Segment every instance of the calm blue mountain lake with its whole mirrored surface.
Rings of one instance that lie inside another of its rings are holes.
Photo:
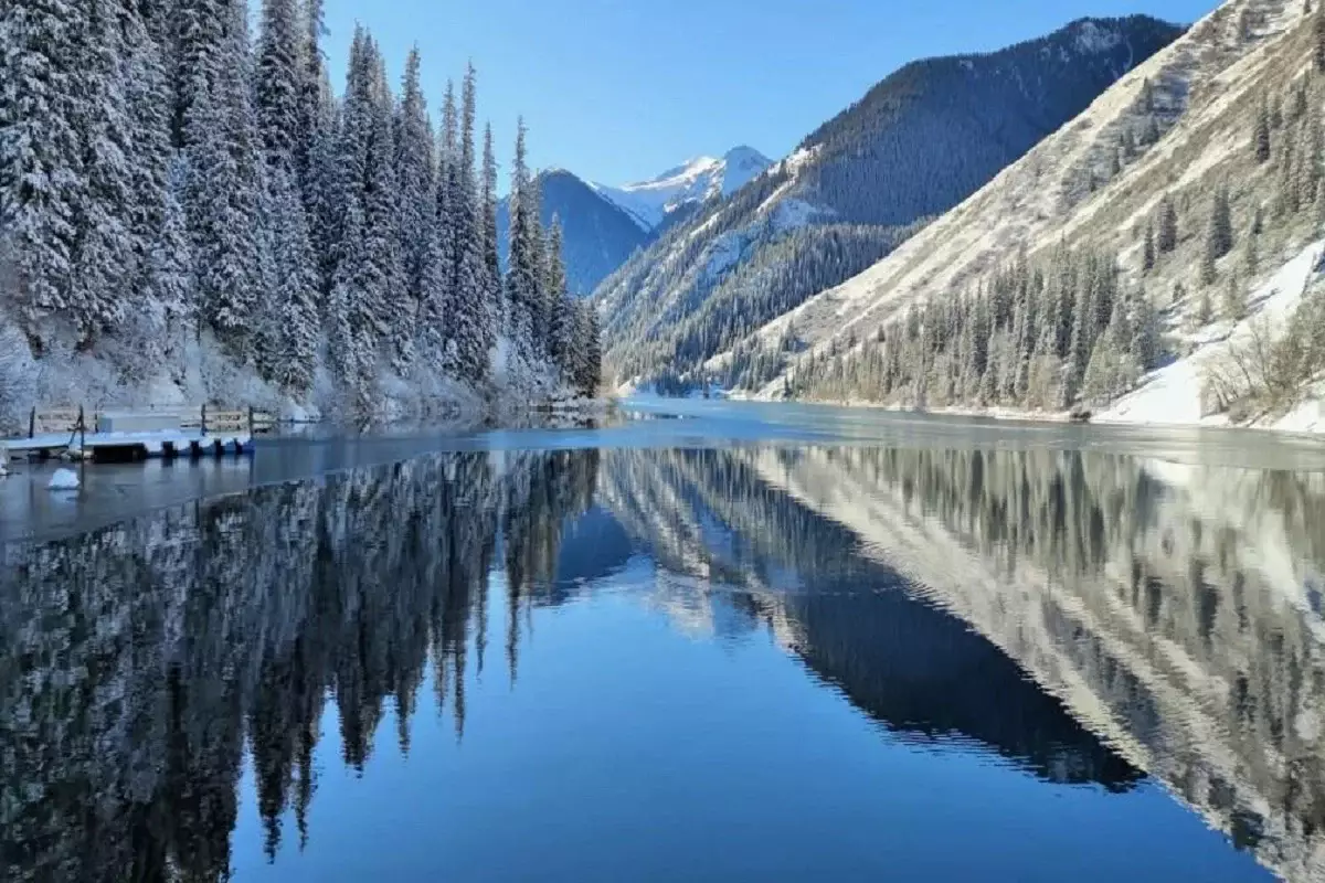
[[[3,879],[1325,879],[1314,441],[641,402],[99,469],[0,485]]]

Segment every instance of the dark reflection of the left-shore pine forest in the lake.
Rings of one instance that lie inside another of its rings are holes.
[[[591,457],[523,466],[566,487]],[[521,503],[511,536],[590,496]],[[33,879],[223,879],[245,747],[268,854],[288,812],[302,847],[327,696],[356,769],[388,706],[408,749],[429,658],[462,731],[505,500],[486,454],[440,454],[8,547],[0,702],[23,714],[0,723],[5,860]],[[17,676],[19,659],[50,676]]]

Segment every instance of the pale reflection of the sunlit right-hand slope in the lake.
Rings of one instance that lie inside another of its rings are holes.
[[[1325,874],[1325,496],[1049,451],[751,454],[1289,879]]]

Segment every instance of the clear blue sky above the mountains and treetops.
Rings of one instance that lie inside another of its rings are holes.
[[[1080,16],[1194,21],[1215,0],[327,0],[337,89],[354,23],[394,77],[413,42],[429,106],[473,58],[478,115],[506,158],[607,184],[750,144],[776,159],[889,71],[980,52]]]

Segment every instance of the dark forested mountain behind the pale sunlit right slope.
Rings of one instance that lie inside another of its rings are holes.
[[[619,379],[693,381],[696,365],[885,256],[1179,33],[1141,16],[1083,20],[902,68],[603,283],[610,364]]]

